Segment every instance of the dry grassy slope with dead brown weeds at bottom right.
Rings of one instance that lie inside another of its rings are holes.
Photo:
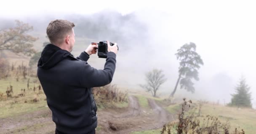
[[[201,101],[191,103],[182,103],[178,120],[165,124],[161,134],[255,134],[256,111],[253,109],[237,109]],[[171,132],[173,128],[175,132]]]

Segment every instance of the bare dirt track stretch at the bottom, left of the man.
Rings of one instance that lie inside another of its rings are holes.
[[[49,109],[0,119],[1,134],[53,134],[54,130]]]

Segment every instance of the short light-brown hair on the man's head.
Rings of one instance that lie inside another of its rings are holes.
[[[63,39],[68,33],[72,32],[75,24],[66,20],[51,21],[46,29],[47,36],[52,44],[62,43]]]

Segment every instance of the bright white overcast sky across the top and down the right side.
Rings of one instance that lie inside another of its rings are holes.
[[[175,51],[184,43],[195,42],[205,62],[200,77],[211,79],[224,73],[237,82],[244,75],[256,104],[256,4],[253,0],[4,0],[1,5],[0,16],[5,18],[91,14],[104,9],[123,15],[144,10],[167,13],[170,17],[166,20],[150,18],[150,13],[144,13],[141,18],[166,21],[162,34],[169,34],[171,43],[177,44]]]

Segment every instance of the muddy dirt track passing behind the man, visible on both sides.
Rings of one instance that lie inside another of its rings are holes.
[[[141,108],[135,96],[129,96],[128,108],[98,111],[97,134],[131,134],[133,131],[159,129],[173,120],[170,113],[148,99],[149,108]],[[1,134],[55,134],[51,111],[47,109],[0,119]]]

